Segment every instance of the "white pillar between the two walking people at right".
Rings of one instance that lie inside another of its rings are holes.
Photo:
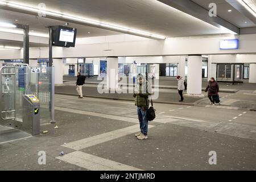
[[[188,56],[188,87],[187,93],[189,96],[204,96],[202,95],[202,56]]]

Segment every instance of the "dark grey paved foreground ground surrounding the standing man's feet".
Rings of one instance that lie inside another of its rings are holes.
[[[114,162],[155,171],[256,170],[255,111],[155,104],[148,139],[138,140],[134,102],[56,94],[55,106],[56,124],[41,129],[48,133],[0,145],[0,170],[104,170],[118,168]],[[65,146],[72,142],[81,149]],[[39,151],[46,151],[46,165],[38,164]],[[56,158],[61,151],[65,155]],[[210,151],[217,154],[216,165],[208,163]],[[72,156],[76,152],[93,158]]]

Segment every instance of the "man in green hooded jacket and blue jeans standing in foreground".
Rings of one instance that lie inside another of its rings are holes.
[[[137,76],[137,84],[135,85],[135,91],[133,97],[135,98],[135,106],[137,106],[137,113],[139,118],[139,127],[141,131],[135,134],[140,140],[147,139],[148,120],[147,109],[149,106],[148,96],[151,93],[151,85],[145,80],[143,75]]]

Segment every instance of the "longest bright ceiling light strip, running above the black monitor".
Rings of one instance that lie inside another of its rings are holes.
[[[92,24],[94,26],[96,25],[96,26],[100,26],[100,27],[111,28],[111,29],[117,30],[117,31],[124,31],[124,32],[128,32],[128,33],[130,32],[130,33],[136,34],[136,35],[148,36],[148,37],[151,37],[151,38],[163,39],[163,40],[166,39],[165,36],[161,36],[161,35],[155,35],[155,34],[150,34],[148,32],[142,32],[142,31],[133,30],[133,29],[129,29],[129,28],[114,26],[114,25],[111,25],[111,24],[96,22],[96,21],[93,21],[93,20],[88,20],[88,19],[77,17],[77,16],[73,16],[73,15],[64,15],[64,14],[60,14],[60,13],[53,13],[52,11],[40,10],[36,7],[24,6],[24,5],[20,5],[20,4],[13,3],[13,2],[6,2],[6,1],[0,0],[0,5],[14,7],[14,8],[17,8],[17,9],[32,11],[32,12],[36,12],[36,13],[42,13],[42,14],[46,14],[46,15],[57,16],[57,17],[66,18],[66,19],[70,19],[70,20],[76,20],[78,22],[88,23],[88,24]]]

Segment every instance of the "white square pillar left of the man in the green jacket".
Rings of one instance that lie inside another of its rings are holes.
[[[118,88],[118,57],[107,58],[106,86],[111,93]]]

